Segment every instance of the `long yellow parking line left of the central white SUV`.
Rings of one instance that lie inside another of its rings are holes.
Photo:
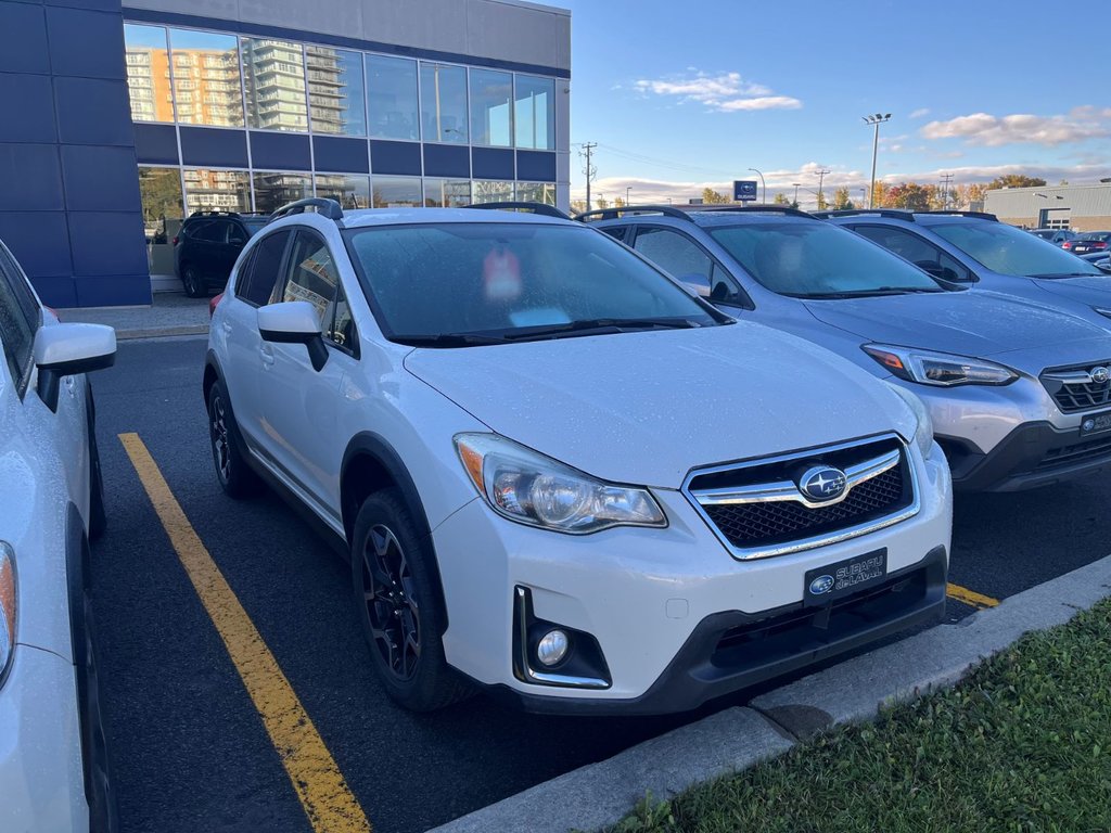
[[[369,833],[370,822],[359,801],[348,787],[254,623],[186,518],[154,459],[139,434],[119,436],[170,536],[170,543],[262,717],[313,831]]]

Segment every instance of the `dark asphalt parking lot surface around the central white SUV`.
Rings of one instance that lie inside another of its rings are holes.
[[[93,379],[109,510],[93,546],[94,604],[124,831],[312,826],[282,766],[288,750],[268,734],[121,434],[149,451],[377,831],[427,830],[697,716],[540,717],[484,697],[432,715],[392,705],[347,565],[276,495],[240,503],[220,491],[200,393],[204,347],[126,342],[117,367]],[[1092,479],[959,499],[948,616],[1107,555],[1105,495]]]

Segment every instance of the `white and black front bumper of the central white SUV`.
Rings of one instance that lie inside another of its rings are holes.
[[[937,446],[915,468],[921,508],[913,518],[754,561],[734,559],[679,492],[654,491],[667,529],[585,536],[514,524],[477,499],[433,532],[448,662],[532,711],[662,713],[934,619],[944,604],[951,485]],[[822,628],[828,609],[817,618],[803,610],[807,571],[879,548],[888,551],[889,592],[848,596]],[[607,685],[538,684],[514,673],[519,589],[538,619],[597,641]]]

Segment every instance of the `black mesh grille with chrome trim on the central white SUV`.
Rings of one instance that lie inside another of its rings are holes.
[[[845,473],[845,491],[814,501],[800,473],[821,464]],[[889,435],[770,460],[697,471],[684,486],[702,516],[740,559],[781,555],[890,525],[918,512],[909,452]]]

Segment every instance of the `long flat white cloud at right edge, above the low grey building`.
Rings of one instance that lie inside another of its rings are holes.
[[[1004,144],[1053,147],[1111,136],[1111,111],[1097,112],[1085,106],[1068,116],[992,116],[971,113],[949,121],[931,121],[922,127],[927,139],[963,139],[969,144],[998,148]]]

